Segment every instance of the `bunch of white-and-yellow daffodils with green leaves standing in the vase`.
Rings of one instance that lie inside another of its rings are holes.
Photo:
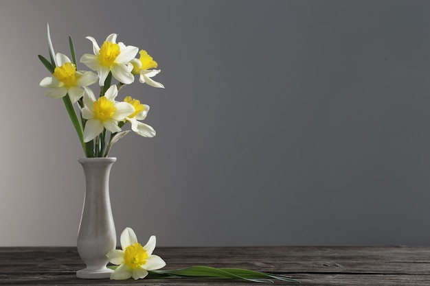
[[[73,40],[69,36],[71,60],[63,53],[55,53],[47,27],[50,61],[39,55],[52,76],[44,78],[40,86],[47,88],[46,95],[63,98],[69,117],[78,133],[85,156],[106,157],[113,143],[130,130],[122,131],[126,123],[140,136],[153,137],[155,130],[142,122],[148,115],[149,106],[130,96],[122,102],[116,100],[120,89],[131,84],[135,76],[139,82],[156,88],[164,88],[152,77],[160,70],[157,62],[145,50],[117,43],[117,34],[110,34],[100,47],[95,38],[87,39],[93,44],[93,54],[86,53],[80,62],[95,71],[78,71]],[[139,52],[139,58],[135,58]],[[116,83],[113,82],[116,80]],[[98,83],[100,94],[96,97],[89,88]],[[75,109],[75,106],[77,107]],[[78,110],[80,118],[78,118]]]

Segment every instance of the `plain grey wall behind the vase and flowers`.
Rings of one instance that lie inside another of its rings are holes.
[[[76,245],[82,150],[38,87],[47,22],[56,51],[115,32],[159,62],[166,89],[120,93],[157,136],[111,153],[118,234],[430,245],[429,1],[3,0],[1,246]]]

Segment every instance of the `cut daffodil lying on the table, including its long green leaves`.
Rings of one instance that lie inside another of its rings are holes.
[[[115,266],[111,279],[123,280],[128,278],[228,278],[242,279],[252,282],[272,283],[273,279],[284,282],[299,283],[287,276],[256,272],[238,268],[214,268],[208,266],[193,266],[177,270],[159,270],[166,265],[161,257],[152,254],[155,250],[156,239],[151,236],[145,246],[137,241],[135,232],[126,228],[121,234],[121,250],[111,250],[106,256]]]

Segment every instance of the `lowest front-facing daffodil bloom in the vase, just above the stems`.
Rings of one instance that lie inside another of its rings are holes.
[[[84,142],[91,141],[103,131],[120,132],[118,121],[124,121],[126,117],[135,112],[135,108],[127,102],[115,102],[118,95],[117,86],[108,88],[104,96],[95,99],[93,91],[84,88],[84,108],[82,117],[87,119],[84,128]]]

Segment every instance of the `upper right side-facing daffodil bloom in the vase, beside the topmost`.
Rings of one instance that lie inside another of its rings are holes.
[[[133,75],[139,75],[139,82],[142,82],[142,84],[146,83],[153,87],[164,88],[163,84],[151,79],[161,71],[160,69],[155,69],[158,67],[157,62],[143,49],[139,51],[139,55],[139,59],[134,58],[131,60],[131,64],[133,64]]]

